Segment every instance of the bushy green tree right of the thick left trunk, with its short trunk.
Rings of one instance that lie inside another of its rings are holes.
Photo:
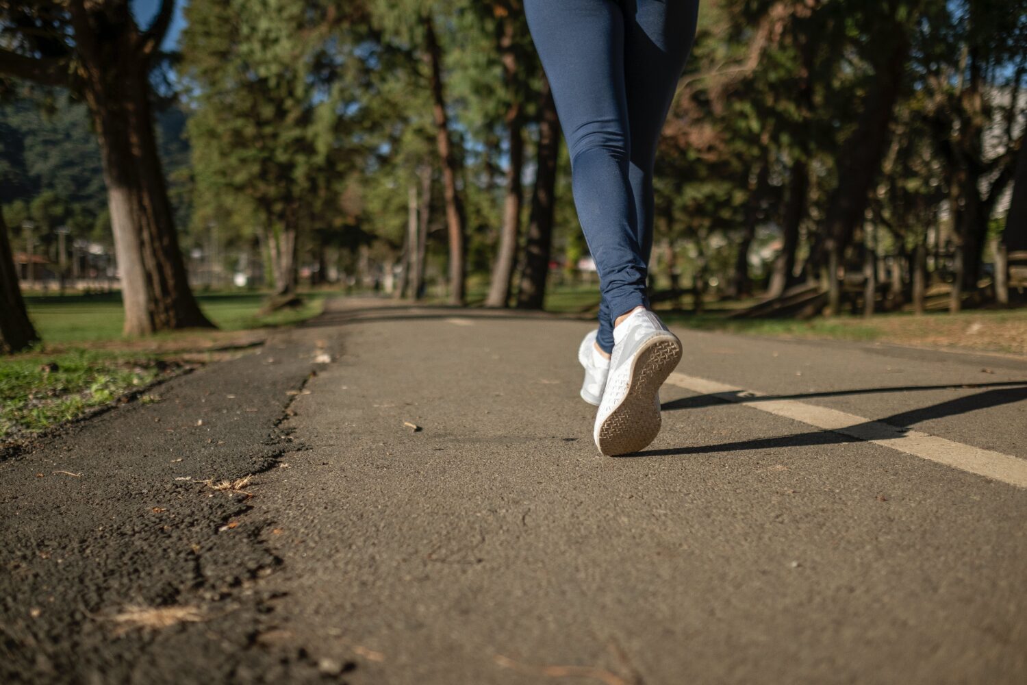
[[[362,102],[350,86],[363,70],[358,41],[340,35],[351,17],[320,0],[192,3],[187,16],[196,219],[256,224],[274,303],[289,301],[300,242],[324,241],[346,214],[346,132],[357,118],[346,112]]]

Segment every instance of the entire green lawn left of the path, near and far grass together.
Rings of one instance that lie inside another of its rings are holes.
[[[259,342],[255,329],[291,326],[320,313],[326,293],[304,295],[297,309],[261,314],[264,296],[197,296],[219,331],[149,338],[121,335],[117,294],[26,298],[43,344],[0,359],[0,447],[145,388],[210,358],[211,350]],[[197,353],[197,351],[201,353]],[[143,395],[153,401],[154,395]]]

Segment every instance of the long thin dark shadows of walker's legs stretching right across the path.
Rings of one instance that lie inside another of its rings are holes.
[[[882,388],[864,389],[839,392],[817,392],[806,395],[787,395],[776,397],[746,397],[746,402],[767,401],[767,399],[794,399],[800,397],[824,397],[844,394],[862,394],[872,392],[893,392],[899,390],[931,390],[951,387],[964,387],[960,385],[941,386],[920,386],[909,388]],[[720,445],[700,445],[695,447],[672,448],[667,450],[647,450],[635,454],[623,455],[624,457],[665,457],[684,456],[689,454],[711,454],[720,452],[744,452],[749,450],[775,450],[790,447],[809,447],[823,445],[840,445],[843,443],[853,443],[859,441],[886,441],[902,437],[917,423],[941,419],[949,416],[959,416],[975,412],[981,409],[1000,407],[1015,402],[1027,399],[1027,381],[1010,383],[987,383],[974,387],[990,387],[992,389],[978,392],[964,397],[955,397],[946,402],[938,403],[929,407],[914,409],[907,412],[900,412],[881,419],[869,420],[864,423],[847,426],[846,431],[854,432],[860,437],[835,432],[833,430],[817,429],[808,432],[794,433],[791,435],[777,435],[774,437],[761,437],[757,440],[738,441],[733,443],[722,443]],[[719,395],[700,395],[698,397],[685,397],[684,401],[668,403],[674,405],[674,409],[698,409],[730,403],[725,398],[726,393]],[[712,403],[710,401],[713,401]],[[688,404],[690,401],[692,404]],[[665,405],[664,405],[665,407]]]

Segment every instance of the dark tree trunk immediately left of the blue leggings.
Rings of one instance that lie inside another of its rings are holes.
[[[549,273],[553,248],[553,215],[556,208],[557,160],[560,156],[560,119],[553,101],[549,82],[542,79],[542,111],[538,124],[538,158],[535,189],[531,197],[528,241],[525,245],[524,272],[518,289],[517,306],[541,309],[545,301],[545,281]]]

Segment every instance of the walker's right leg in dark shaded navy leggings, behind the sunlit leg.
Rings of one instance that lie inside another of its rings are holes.
[[[656,146],[695,37],[698,0],[622,0],[624,81],[630,122],[629,179],[645,264],[652,252]]]

